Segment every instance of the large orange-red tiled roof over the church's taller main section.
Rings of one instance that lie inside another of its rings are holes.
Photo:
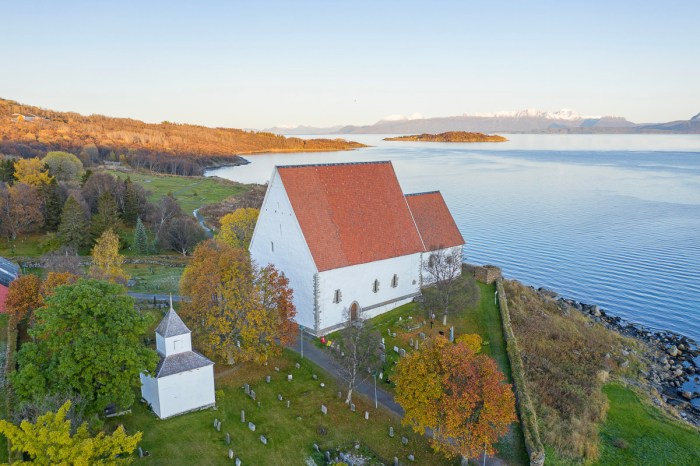
[[[391,162],[277,171],[319,271],[423,251]]]

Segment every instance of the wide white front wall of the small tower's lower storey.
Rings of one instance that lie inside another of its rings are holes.
[[[214,395],[214,366],[201,367],[157,379],[159,405],[153,411],[161,419],[212,406]]]

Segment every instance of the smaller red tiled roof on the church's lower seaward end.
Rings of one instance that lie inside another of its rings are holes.
[[[439,191],[407,194],[406,201],[426,251],[464,244],[464,238]]]

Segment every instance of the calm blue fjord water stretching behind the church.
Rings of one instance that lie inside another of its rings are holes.
[[[391,160],[404,192],[442,192],[468,262],[700,341],[700,135],[507,137],[351,135],[373,147],[248,156],[207,175],[264,183],[274,165]]]

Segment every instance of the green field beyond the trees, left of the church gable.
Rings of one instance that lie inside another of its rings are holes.
[[[191,214],[193,210],[206,204],[221,202],[227,197],[240,194],[250,189],[249,186],[220,178],[203,176],[176,176],[157,173],[122,172],[107,170],[121,179],[127,176],[150,191],[148,199],[158,202],[160,198],[172,193],[182,210]]]

